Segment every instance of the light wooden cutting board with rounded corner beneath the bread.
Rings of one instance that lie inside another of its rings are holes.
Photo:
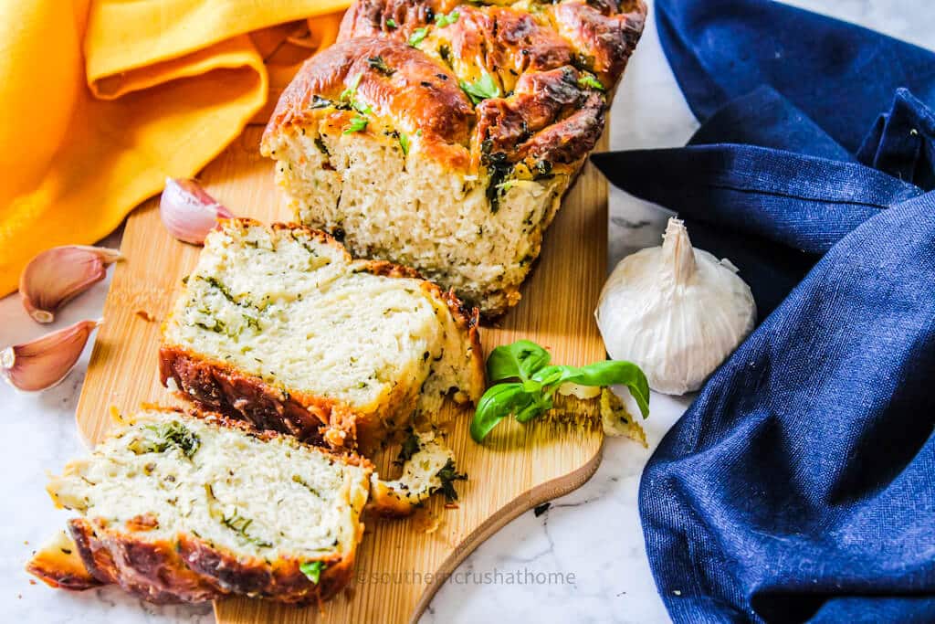
[[[258,152],[260,126],[243,135],[200,175],[209,193],[239,216],[289,221],[273,183],[273,164]],[[606,138],[604,139],[606,141]],[[602,143],[606,146],[606,142]],[[159,384],[156,358],[159,324],[181,278],[194,268],[199,248],[172,239],[153,199],[127,220],[115,269],[78,406],[78,428],[88,443],[108,428],[108,409],[134,410],[141,402],[174,403]],[[549,229],[538,266],[525,283],[523,300],[497,327],[485,327],[485,352],[520,338],[539,342],[553,361],[580,366],[603,359],[593,310],[605,275],[607,183],[588,164]],[[445,582],[446,574],[484,539],[541,502],[581,486],[597,470],[603,434],[597,406],[560,403],[586,424],[564,418],[497,428],[483,445],[468,436],[471,414],[453,405],[449,443],[458,468],[468,473],[457,484],[457,508],[434,500],[403,520],[367,518],[358,551],[356,580],[343,595],[324,604],[296,608],[232,599],[215,604],[219,622],[345,622],[395,624],[415,621]],[[390,449],[388,455],[395,452]],[[378,465],[385,462],[378,460]],[[439,497],[434,497],[439,499]]]

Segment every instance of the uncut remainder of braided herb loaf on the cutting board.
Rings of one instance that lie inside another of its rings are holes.
[[[261,151],[302,223],[504,312],[604,129],[642,0],[357,0]]]

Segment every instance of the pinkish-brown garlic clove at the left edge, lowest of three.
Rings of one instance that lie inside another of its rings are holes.
[[[0,351],[0,375],[24,392],[37,392],[58,384],[68,374],[95,327],[103,321],[80,321],[35,341]]]

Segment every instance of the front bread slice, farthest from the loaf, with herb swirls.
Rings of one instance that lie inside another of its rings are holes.
[[[68,528],[95,582],[151,602],[309,602],[351,578],[371,472],[366,459],[220,414],[151,408],[121,419],[48,489],[79,513]],[[29,570],[58,587],[94,585],[67,564]]]

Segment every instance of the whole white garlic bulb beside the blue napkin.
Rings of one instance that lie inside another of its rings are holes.
[[[753,330],[750,287],[729,260],[692,248],[679,219],[661,247],[628,255],[597,304],[597,326],[612,359],[635,362],[657,392],[698,390]]]

